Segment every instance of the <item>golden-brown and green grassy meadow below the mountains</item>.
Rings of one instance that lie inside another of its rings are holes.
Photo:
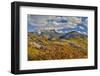
[[[48,38],[47,35],[28,32],[28,60],[87,58],[87,42],[87,37],[78,34],[70,38]]]

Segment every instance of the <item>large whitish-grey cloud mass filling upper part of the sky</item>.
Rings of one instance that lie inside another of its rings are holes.
[[[51,23],[48,20],[53,20]],[[66,23],[59,22],[66,20]],[[79,17],[62,17],[62,16],[42,16],[42,15],[28,15],[28,23],[37,26],[37,30],[51,30],[63,28],[75,28],[77,24],[81,23]]]

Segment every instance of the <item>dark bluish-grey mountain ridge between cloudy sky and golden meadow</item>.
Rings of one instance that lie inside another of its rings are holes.
[[[38,35],[37,32],[33,32],[33,34]],[[46,36],[49,39],[52,38],[59,38],[59,39],[70,39],[70,38],[87,38],[87,35],[85,34],[81,34],[77,31],[71,31],[68,33],[58,33],[55,30],[51,30],[51,31],[42,31],[41,34],[39,34],[41,36]]]

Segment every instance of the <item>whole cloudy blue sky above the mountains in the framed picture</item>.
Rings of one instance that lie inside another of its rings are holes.
[[[28,32],[55,30],[58,33],[77,31],[87,34],[88,17],[28,15]]]

